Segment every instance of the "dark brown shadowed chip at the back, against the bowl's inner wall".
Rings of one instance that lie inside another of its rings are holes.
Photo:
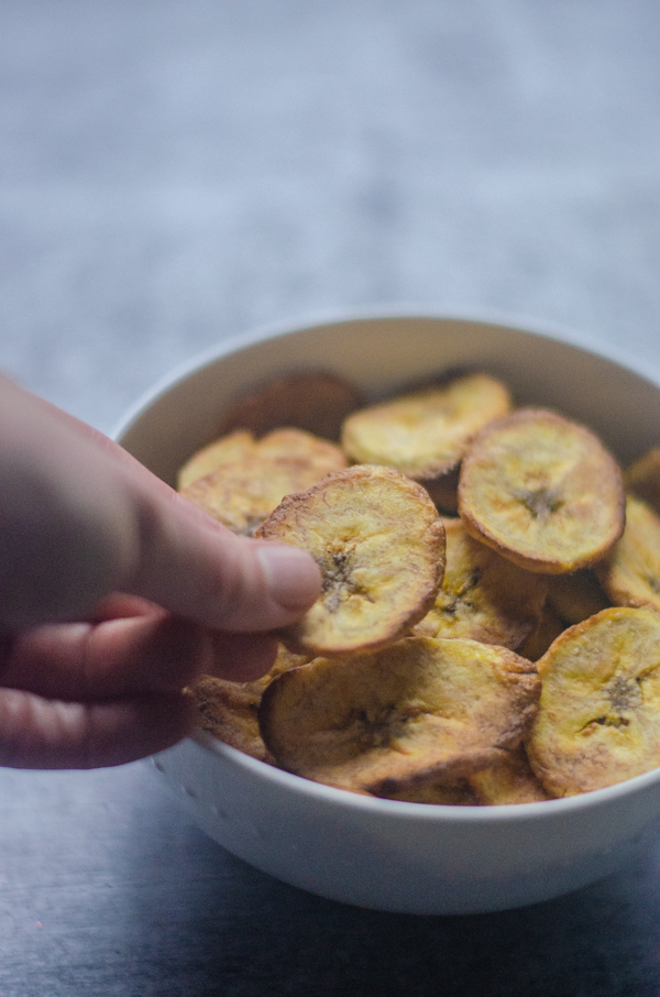
[[[337,374],[322,371],[283,374],[235,402],[224,417],[221,431],[251,429],[262,436],[278,426],[296,426],[337,440],[343,419],[361,401],[355,385]]]

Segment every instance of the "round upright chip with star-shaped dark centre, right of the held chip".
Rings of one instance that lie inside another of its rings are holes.
[[[514,563],[548,574],[586,568],[624,529],[622,474],[583,426],[526,408],[492,423],[463,459],[468,532]]]

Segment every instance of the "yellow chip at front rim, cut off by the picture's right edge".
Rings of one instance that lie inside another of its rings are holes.
[[[660,614],[603,610],[558,637],[538,668],[527,753],[549,792],[601,789],[660,765]]]

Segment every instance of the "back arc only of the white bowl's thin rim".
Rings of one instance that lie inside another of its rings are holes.
[[[386,321],[391,319],[408,319],[425,321],[465,322],[471,325],[494,326],[502,329],[512,329],[539,339],[557,340],[601,357],[625,370],[636,374],[650,384],[660,388],[660,366],[650,361],[620,350],[610,342],[602,342],[595,336],[579,332],[575,329],[556,322],[543,322],[525,314],[499,311],[494,308],[447,308],[415,305],[363,305],[342,309],[330,309],[301,315],[299,318],[283,319],[256,326],[254,329],[221,339],[211,347],[207,347],[176,364],[168,373],[160,377],[147,387],[128,410],[120,417],[110,431],[113,440],[119,440],[133,425],[140,415],[150,407],[161,395],[174,387],[179,381],[195,374],[216,360],[238,353],[241,350],[256,346],[260,342],[278,339],[296,332],[311,331],[315,327],[348,325],[354,321]]]

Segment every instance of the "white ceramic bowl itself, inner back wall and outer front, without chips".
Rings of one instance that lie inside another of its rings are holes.
[[[117,436],[173,483],[227,406],[270,375],[332,370],[377,396],[463,364],[499,375],[519,403],[592,426],[623,463],[660,441],[660,380],[639,364],[565,333],[432,316],[359,317],[224,344],[158,385]],[[150,764],[234,855],[302,889],[381,910],[468,913],[546,900],[617,869],[660,830],[660,770],[570,799],[479,808],[319,786],[207,734]]]

